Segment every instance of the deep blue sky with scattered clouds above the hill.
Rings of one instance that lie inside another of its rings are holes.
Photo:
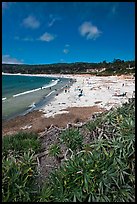
[[[134,2],[2,2],[2,62],[135,58]]]

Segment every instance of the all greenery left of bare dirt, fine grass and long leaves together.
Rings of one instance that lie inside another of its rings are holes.
[[[34,133],[18,133],[2,139],[2,201],[36,200],[37,162],[40,142]]]

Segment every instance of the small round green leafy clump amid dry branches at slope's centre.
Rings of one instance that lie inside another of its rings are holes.
[[[81,149],[83,145],[82,135],[79,133],[79,130],[74,128],[64,131],[60,136],[60,140],[73,151]]]

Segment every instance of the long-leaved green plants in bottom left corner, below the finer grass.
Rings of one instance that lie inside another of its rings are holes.
[[[2,201],[26,202],[34,199],[36,177],[34,152],[2,159]]]

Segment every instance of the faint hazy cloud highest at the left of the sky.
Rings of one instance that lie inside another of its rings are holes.
[[[34,16],[28,16],[22,23],[26,28],[36,29],[40,26],[40,22]]]

